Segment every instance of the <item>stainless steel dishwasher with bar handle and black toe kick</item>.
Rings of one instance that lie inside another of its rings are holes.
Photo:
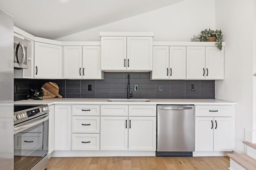
[[[192,156],[194,143],[194,105],[158,105],[156,156]]]

